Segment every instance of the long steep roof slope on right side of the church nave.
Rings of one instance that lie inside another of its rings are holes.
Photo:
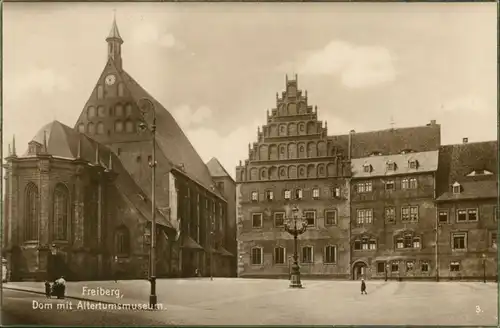
[[[223,198],[221,193],[212,188],[214,182],[210,172],[186,137],[174,117],[146,90],[144,90],[129,74],[122,72],[126,88],[137,102],[141,98],[150,99],[155,106],[156,136],[159,149],[173,165],[182,165],[186,175],[197,181],[204,188]]]

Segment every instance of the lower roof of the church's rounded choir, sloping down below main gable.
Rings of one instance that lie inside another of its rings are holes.
[[[78,157],[78,152],[80,152],[81,160],[88,162],[89,165],[95,165],[96,154],[99,154],[99,164],[108,169],[111,157],[111,171],[117,174],[114,186],[143,218],[151,221],[151,201],[140,198],[141,188],[123,167],[120,159],[108,147],[97,143],[84,134],[78,133],[59,121],[53,121],[45,125],[32,140],[43,144],[44,134],[47,141],[47,153],[51,156],[75,160]],[[97,148],[99,149],[98,152]],[[161,213],[157,214],[157,220],[161,225],[172,227],[168,218],[165,218]]]

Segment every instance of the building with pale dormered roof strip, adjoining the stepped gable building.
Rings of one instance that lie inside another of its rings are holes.
[[[432,276],[440,126],[351,132],[350,140],[354,279]]]

